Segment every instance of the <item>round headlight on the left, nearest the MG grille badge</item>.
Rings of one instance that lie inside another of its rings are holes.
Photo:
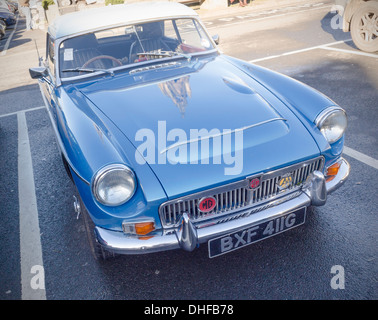
[[[92,182],[92,192],[97,201],[107,206],[119,206],[135,192],[134,173],[121,164],[99,170]]]

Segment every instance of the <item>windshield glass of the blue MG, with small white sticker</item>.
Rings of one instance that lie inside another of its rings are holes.
[[[184,57],[214,49],[195,19],[172,19],[127,25],[63,41],[60,77],[74,77],[145,61]]]

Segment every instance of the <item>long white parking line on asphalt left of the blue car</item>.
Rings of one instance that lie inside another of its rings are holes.
[[[23,300],[45,300],[41,235],[25,112],[17,113],[17,121],[21,298]]]

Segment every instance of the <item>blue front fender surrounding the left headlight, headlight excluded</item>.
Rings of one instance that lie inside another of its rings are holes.
[[[124,219],[153,217],[160,227],[158,206],[166,201],[160,182],[148,166],[138,166],[135,148],[118,128],[74,86],[56,89],[57,107],[52,121],[61,149],[70,165],[80,197],[97,226],[121,231]],[[91,191],[94,174],[106,165],[122,163],[137,177],[137,190],[127,203],[108,207]],[[143,181],[145,182],[143,184]]]

